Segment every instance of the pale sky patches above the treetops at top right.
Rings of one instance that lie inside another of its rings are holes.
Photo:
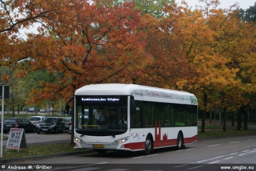
[[[239,3],[241,9],[248,9],[250,6],[254,6],[256,0],[219,0],[221,9],[228,9],[231,5],[236,2]],[[180,6],[181,0],[175,0],[176,3]],[[195,5],[204,6],[204,3],[199,3],[198,0],[185,0],[189,7],[192,6],[192,9],[195,9]]]

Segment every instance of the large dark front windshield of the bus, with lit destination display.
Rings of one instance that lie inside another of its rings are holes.
[[[75,131],[113,136],[127,131],[128,96],[76,96]]]

